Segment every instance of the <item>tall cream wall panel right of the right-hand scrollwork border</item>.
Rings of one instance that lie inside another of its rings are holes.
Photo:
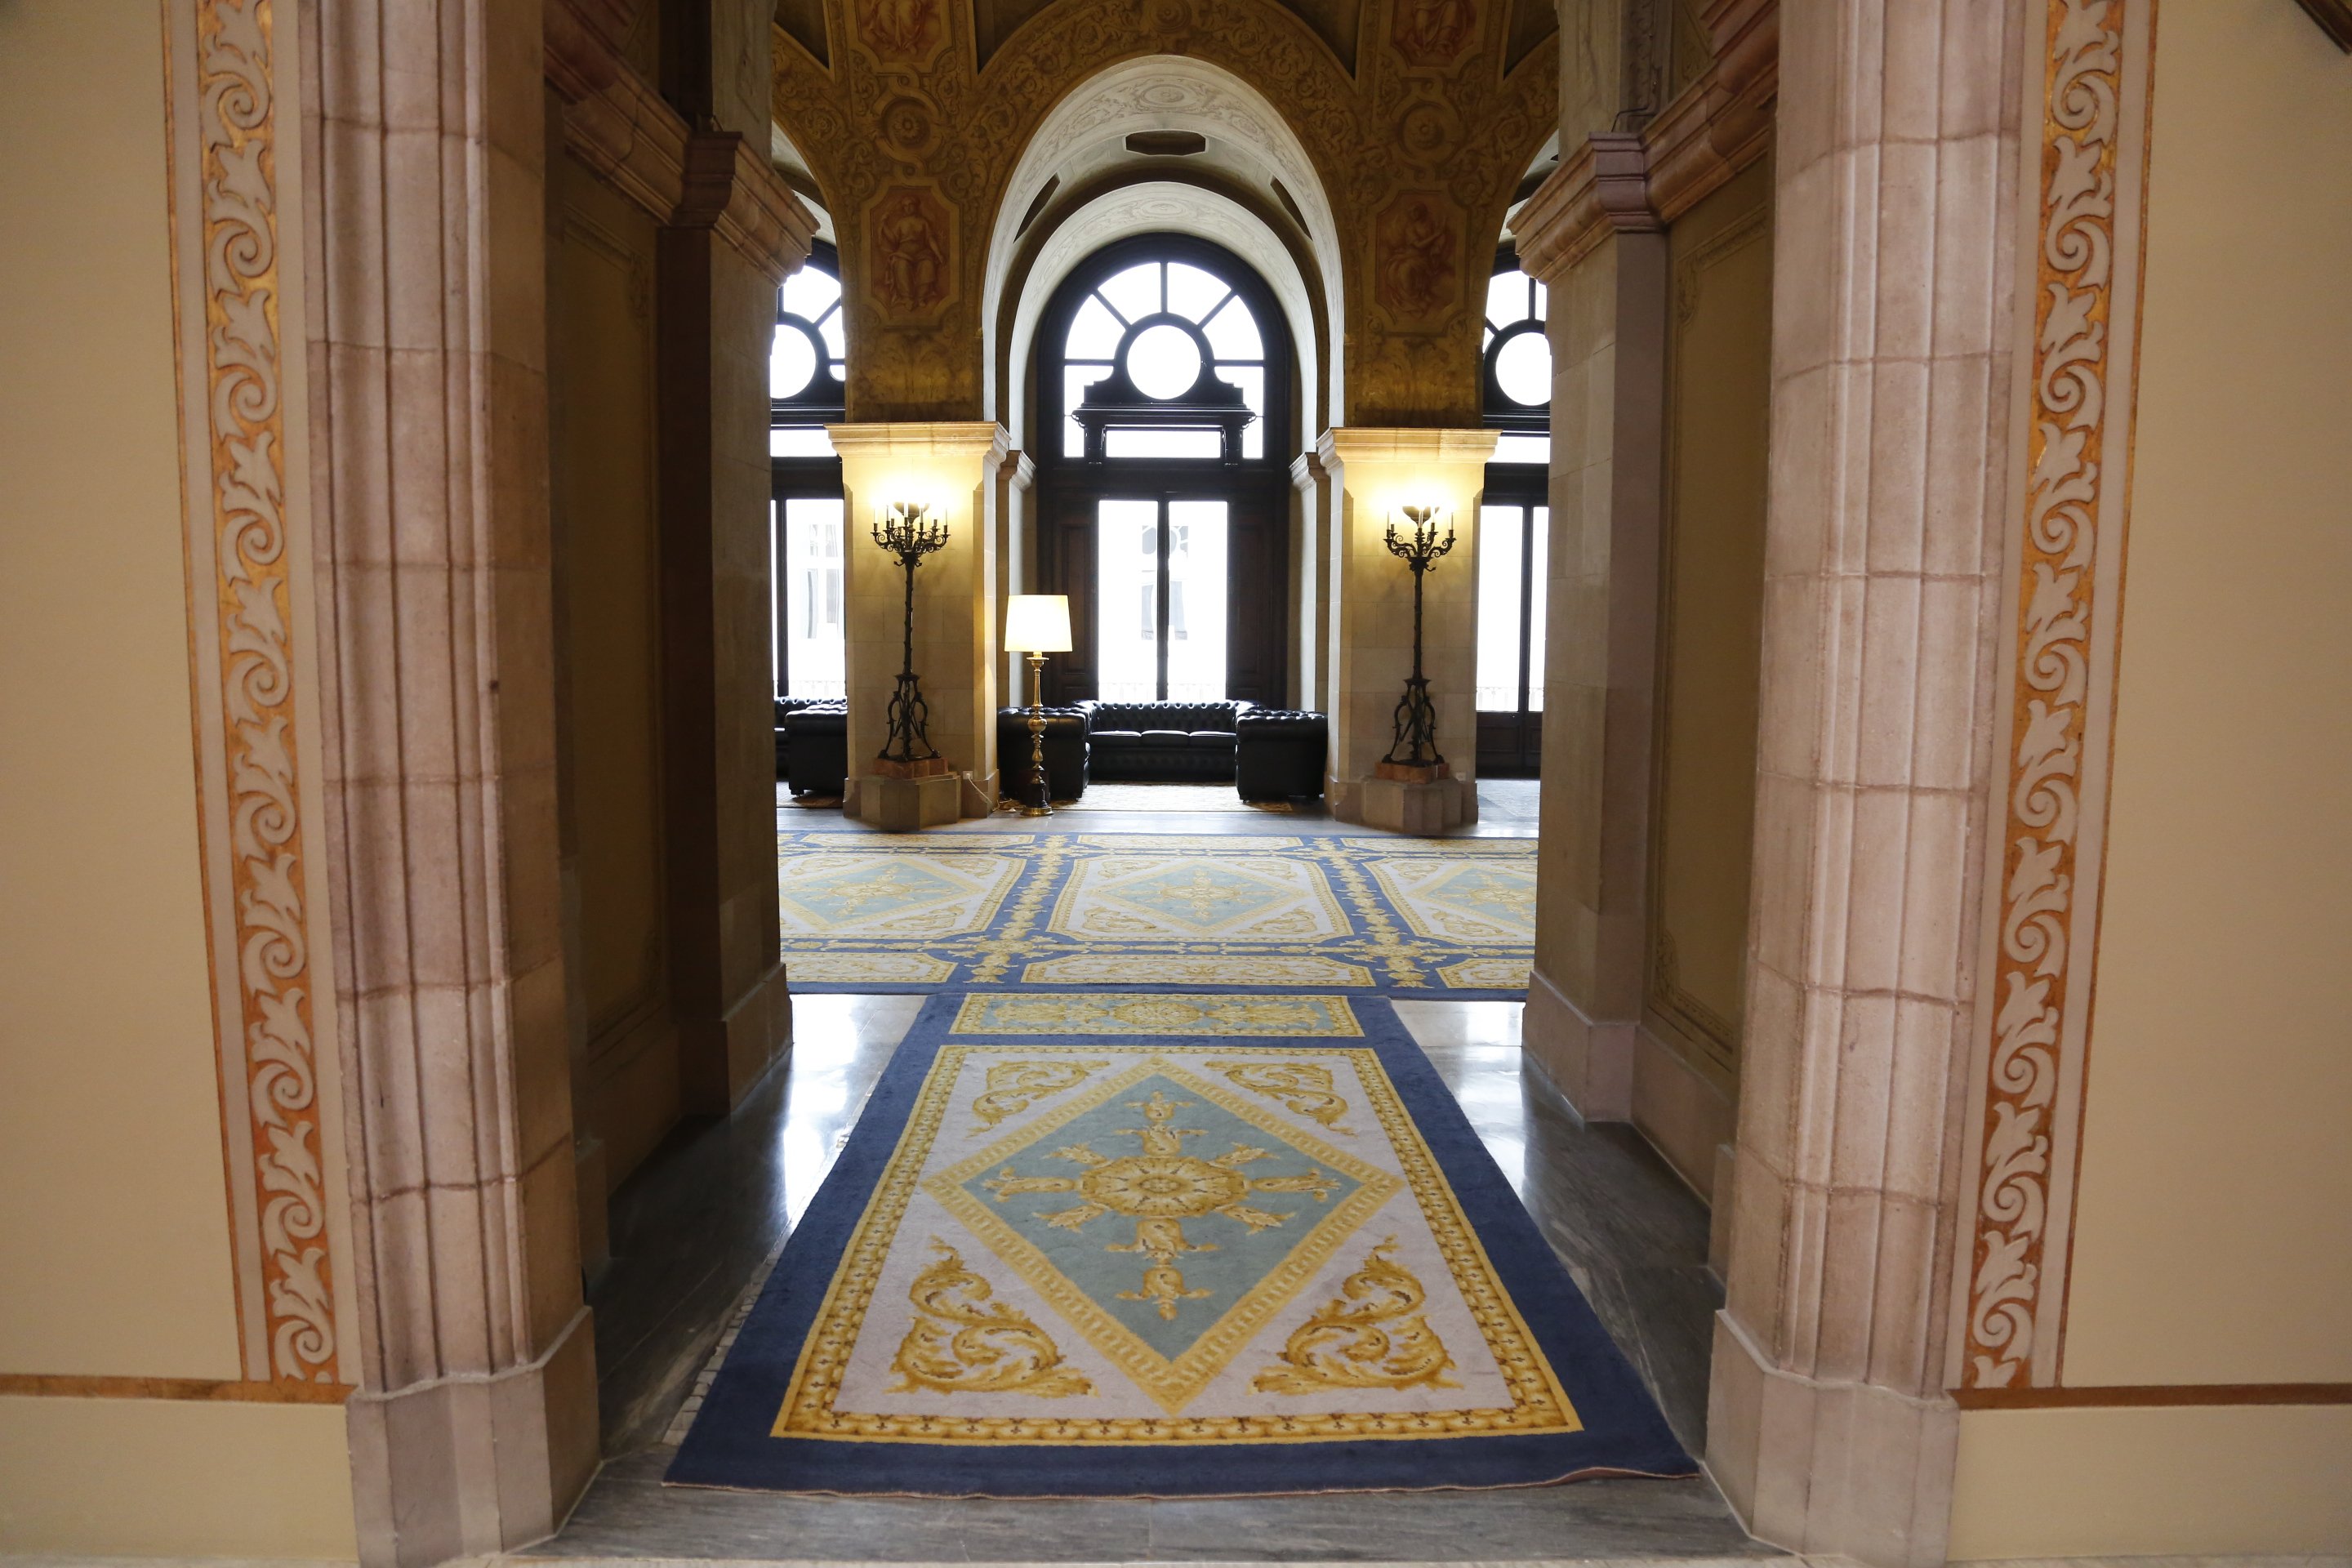
[[[2352,56],[2277,0],[2157,28],[2060,1375],[2352,1382]]]

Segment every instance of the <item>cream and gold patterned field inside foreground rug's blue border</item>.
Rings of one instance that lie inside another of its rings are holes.
[[[946,1046],[774,1425],[1576,1429],[1376,1056],[1249,1041]]]

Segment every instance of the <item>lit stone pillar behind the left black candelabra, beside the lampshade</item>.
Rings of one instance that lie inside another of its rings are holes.
[[[997,423],[833,425],[842,454],[849,621],[849,795],[844,811],[891,830],[988,816],[997,799]],[[950,783],[882,778],[875,759],[898,677],[906,574],[873,541],[889,505],[920,501],[948,543],[915,569],[915,675]]]

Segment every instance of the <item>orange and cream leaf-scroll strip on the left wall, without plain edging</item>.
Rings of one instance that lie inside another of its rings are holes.
[[[261,1309],[270,1375],[332,1382],[334,1288],[294,764],[270,0],[200,0],[195,52],[214,604]]]

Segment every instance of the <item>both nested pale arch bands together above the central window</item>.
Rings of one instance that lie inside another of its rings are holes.
[[[1322,273],[1324,320],[1348,320],[1341,299],[1343,261],[1338,221],[1331,214],[1331,200],[1324,193],[1322,176],[1289,122],[1275,110],[1272,103],[1265,101],[1261,92],[1221,66],[1178,56],[1127,61],[1082,82],[1054,106],[1054,110],[1037,127],[1037,134],[1030,136],[1028,146],[1021,150],[1021,162],[1014,167],[1004,188],[1004,200],[997,205],[997,221],[988,235],[983,322],[988,334],[985,374],[990,383],[985,388],[985,402],[988,411],[1000,418],[1009,400],[1004,397],[1004,388],[995,386],[1000,364],[1007,364],[1007,357],[997,353],[997,331],[1007,324],[1004,289],[1014,273],[1016,252],[1021,249],[1021,223],[1028,216],[1030,205],[1047,188],[1047,181],[1068,169],[1075,158],[1080,158],[1087,148],[1096,148],[1105,141],[1122,141],[1134,132],[1195,132],[1202,136],[1216,136],[1258,176],[1261,183],[1282,181],[1282,188],[1291,193],[1291,200],[1298,205],[1298,214],[1305,219],[1308,249],[1315,256],[1315,268]],[[1296,294],[1298,306],[1305,306],[1308,284],[1279,235],[1275,235],[1263,219],[1247,212],[1230,197],[1221,197],[1192,183],[1152,181],[1148,186],[1150,195],[1143,195],[1143,190],[1145,186],[1129,186],[1103,200],[1089,202],[1084,209],[1063,219],[1061,228],[1054,230],[1054,237],[1040,254],[1037,266],[1030,268],[1030,280],[1021,287],[1023,310],[1030,306],[1035,280],[1049,270],[1049,259],[1065,256],[1065,235],[1070,235],[1073,228],[1098,237],[1087,242],[1077,254],[1068,254],[1054,273],[1054,282],[1068,275],[1070,266],[1075,266],[1087,252],[1098,249],[1110,240],[1150,230],[1200,233],[1202,237],[1218,240],[1230,252],[1247,259],[1270,284],[1275,284],[1275,292],[1284,301],[1284,313],[1291,315],[1291,336],[1301,353],[1301,383],[1312,390],[1317,386],[1315,376],[1319,374],[1315,360],[1312,317],[1303,308],[1291,310],[1291,294]],[[1157,219],[1143,221],[1141,214],[1145,212],[1157,214]],[[1120,216],[1115,219],[1110,214]],[[1185,228],[1190,219],[1200,219],[1202,223],[1211,223],[1216,228],[1190,230]],[[1051,292],[1051,284],[1047,284],[1047,292]],[[1035,303],[1042,308],[1044,296],[1037,296]],[[1009,357],[1016,386],[1021,376],[1018,367],[1025,364],[1025,339],[1016,329]],[[1341,397],[1336,353],[1329,397],[1334,409],[1345,407]]]

